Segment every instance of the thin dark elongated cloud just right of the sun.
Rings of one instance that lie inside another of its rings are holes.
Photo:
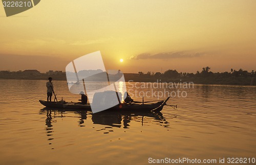
[[[149,54],[143,53],[131,57],[131,59],[172,59],[172,58],[193,58],[200,57],[203,53],[192,53],[192,52],[167,52],[167,53],[158,53],[158,54]]]

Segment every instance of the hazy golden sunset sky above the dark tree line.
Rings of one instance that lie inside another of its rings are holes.
[[[6,17],[0,4],[0,70],[65,71],[96,51],[123,73],[256,70],[255,9],[254,0],[44,0]]]

